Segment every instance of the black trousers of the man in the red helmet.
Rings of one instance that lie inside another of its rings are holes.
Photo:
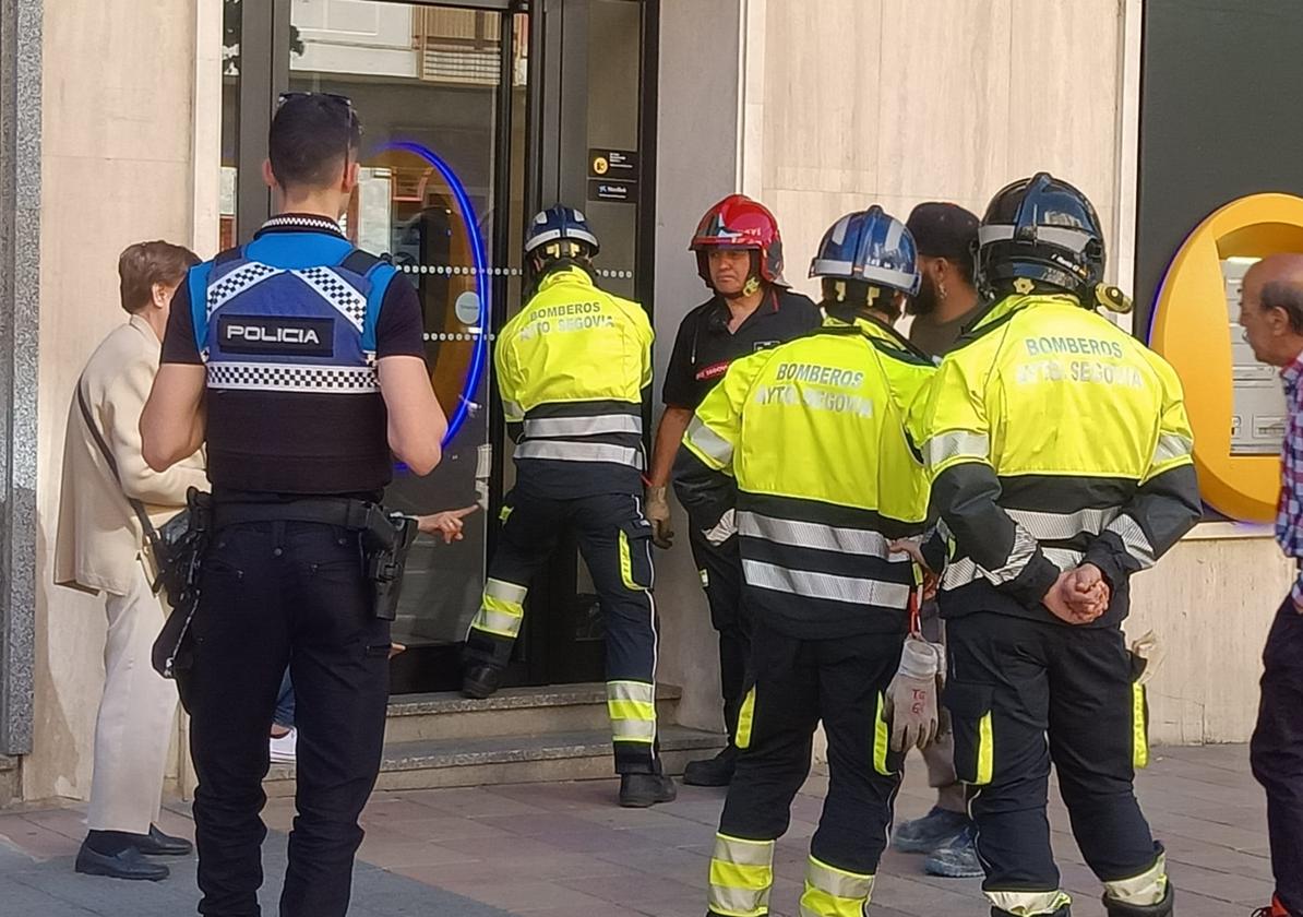
[[[737,710],[747,693],[751,671],[751,616],[741,587],[737,535],[715,546],[696,526],[689,526],[688,544],[710,606],[710,624],[719,633],[719,693],[724,705],[724,728],[731,739],[737,732]]]

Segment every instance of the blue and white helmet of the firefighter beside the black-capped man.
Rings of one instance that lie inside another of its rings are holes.
[[[906,296],[915,296],[921,283],[913,236],[877,205],[847,214],[829,228],[810,262],[810,276],[857,281]]]

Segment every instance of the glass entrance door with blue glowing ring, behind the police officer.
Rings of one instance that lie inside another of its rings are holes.
[[[224,244],[267,216],[261,164],[279,92],[347,95],[362,119],[361,181],[344,229],[358,246],[391,253],[416,285],[450,418],[439,468],[426,478],[396,469],[386,501],[410,513],[477,508],[463,541],[421,537],[413,548],[394,628],[408,649],[392,684],[395,693],[453,689],[513,477],[491,356],[494,332],[526,294],[528,216],[558,201],[585,210],[602,237],[599,283],[645,294],[642,4],[236,0],[227,9]],[[533,584],[507,680],[601,679],[602,637],[592,581],[563,544]]]

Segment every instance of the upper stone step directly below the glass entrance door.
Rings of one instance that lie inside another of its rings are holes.
[[[683,690],[657,685],[657,716],[678,722]],[[390,701],[386,742],[420,742],[482,736],[538,736],[607,728],[606,685],[504,688],[483,701],[457,693],[400,694]]]

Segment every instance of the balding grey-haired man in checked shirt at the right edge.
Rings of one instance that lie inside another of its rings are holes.
[[[1281,370],[1289,410],[1276,541],[1300,568],[1263,651],[1263,699],[1250,757],[1267,789],[1276,895],[1255,917],[1303,917],[1303,254],[1244,275],[1239,323],[1253,356]]]

